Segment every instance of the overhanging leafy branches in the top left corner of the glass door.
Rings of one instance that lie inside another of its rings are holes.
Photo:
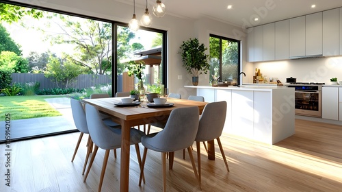
[[[24,8],[17,5],[11,5],[7,3],[0,3],[0,21],[5,21],[7,23],[16,23],[20,21],[23,16],[32,16],[35,19],[42,18],[42,11]]]

